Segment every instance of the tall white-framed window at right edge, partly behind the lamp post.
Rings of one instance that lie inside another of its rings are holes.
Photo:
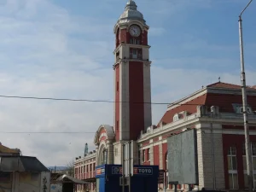
[[[251,152],[252,152],[252,158],[253,158],[253,187],[256,186],[256,143],[251,144]],[[242,145],[242,165],[243,165],[243,175],[244,175],[244,186],[245,188],[248,188],[248,179],[247,179],[247,158],[246,158],[246,148],[245,143]]]

